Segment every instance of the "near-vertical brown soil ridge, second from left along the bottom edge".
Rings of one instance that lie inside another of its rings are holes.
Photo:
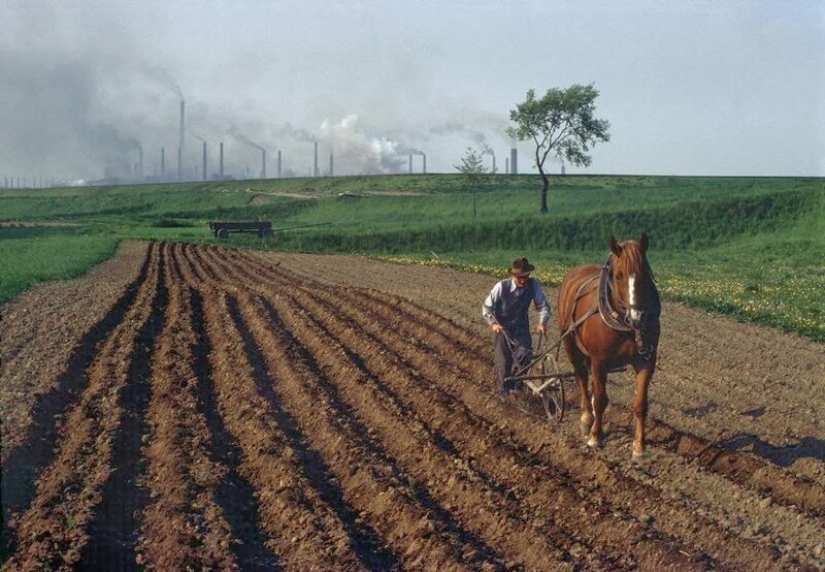
[[[207,432],[197,411],[190,291],[173,248],[166,245],[168,285],[165,321],[153,348],[151,396],[147,408],[147,471],[143,486],[152,499],[142,515],[138,563],[160,570],[236,569],[225,541],[228,526],[210,519],[218,511],[209,500],[222,467],[206,454]]]

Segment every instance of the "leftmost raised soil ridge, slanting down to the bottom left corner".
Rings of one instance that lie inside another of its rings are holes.
[[[42,565],[38,563],[66,568],[81,560],[113,471],[114,441],[126,417],[122,392],[132,379],[140,334],[146,333],[159,295],[159,258],[159,249],[153,246],[146,280],[87,371],[87,387],[61,427],[55,460],[40,475],[37,495],[20,520],[10,568]],[[122,514],[120,510],[117,514]]]

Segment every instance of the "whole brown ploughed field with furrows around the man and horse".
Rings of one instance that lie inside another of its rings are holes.
[[[5,569],[825,568],[822,345],[666,304],[637,465],[621,374],[600,451],[493,396],[494,281],[133,243],[21,297]]]

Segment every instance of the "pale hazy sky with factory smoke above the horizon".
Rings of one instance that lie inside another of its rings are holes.
[[[0,0],[3,177],[505,168],[528,89],[595,84],[568,173],[825,176],[821,0]],[[536,172],[519,143],[519,171]],[[423,167],[420,155],[413,169]],[[550,169],[558,171],[559,166]]]

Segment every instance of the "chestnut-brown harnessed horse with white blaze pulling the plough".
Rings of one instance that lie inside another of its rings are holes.
[[[581,429],[590,437],[589,446],[602,444],[607,373],[627,364],[636,372],[633,459],[645,452],[647,390],[659,344],[661,303],[647,247],[647,234],[625,242],[611,236],[611,254],[604,266],[571,270],[559,287],[558,302],[559,329],[581,389]]]

